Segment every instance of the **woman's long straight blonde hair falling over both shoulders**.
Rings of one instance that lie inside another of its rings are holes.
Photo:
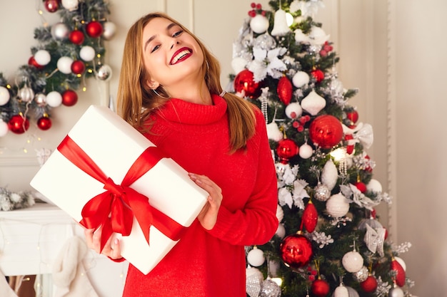
[[[186,33],[191,34],[196,39],[204,53],[204,63],[201,70],[205,73],[205,83],[210,93],[222,93],[219,61],[199,38],[179,24],[178,21],[164,13],[147,14],[136,21],[127,33],[117,98],[118,114],[138,130],[144,130],[143,125],[148,120],[151,110],[164,105],[169,100],[162,86],[157,88],[156,91],[166,98],[156,95],[146,83],[149,73],[144,68],[143,61],[143,30],[149,21],[155,18],[168,19],[174,24],[178,24]],[[254,135],[256,120],[253,113],[253,105],[231,93],[226,93],[224,99],[228,105],[230,152],[236,152],[236,150],[245,147],[247,140]]]

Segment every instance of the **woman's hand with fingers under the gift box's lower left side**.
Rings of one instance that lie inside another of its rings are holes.
[[[94,249],[96,253],[104,254],[114,260],[122,258],[119,239],[115,238],[113,235],[110,236],[101,251],[101,227],[96,229],[96,231],[94,231],[94,229],[84,229],[84,234],[86,236],[87,246],[89,246],[90,249]]]

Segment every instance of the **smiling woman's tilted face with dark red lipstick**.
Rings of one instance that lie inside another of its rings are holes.
[[[183,83],[203,80],[204,53],[199,43],[169,19],[152,19],[144,27],[143,57],[150,88],[163,85],[170,93]]]

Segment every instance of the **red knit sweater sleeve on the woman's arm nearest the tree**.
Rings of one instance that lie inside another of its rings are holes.
[[[209,233],[231,244],[265,244],[278,228],[276,219],[277,181],[266,132],[266,123],[261,113],[256,113],[256,136],[258,137],[258,170],[251,196],[243,209],[230,212],[219,209],[216,225]]]

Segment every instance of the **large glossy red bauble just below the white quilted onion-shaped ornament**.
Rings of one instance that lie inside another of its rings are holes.
[[[329,149],[340,142],[343,127],[333,115],[319,115],[309,126],[309,137],[323,149]]]

